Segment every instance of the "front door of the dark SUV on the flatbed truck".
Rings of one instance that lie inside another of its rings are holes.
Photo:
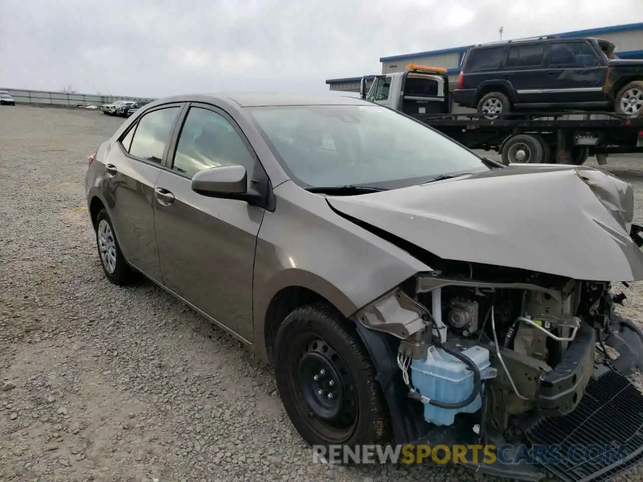
[[[549,54],[550,81],[547,97],[557,103],[597,102],[607,74],[604,55],[598,55],[588,40],[555,40]]]

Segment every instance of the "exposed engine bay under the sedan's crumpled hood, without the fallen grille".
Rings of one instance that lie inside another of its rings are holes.
[[[481,437],[511,440],[520,420],[574,411],[596,351],[623,341],[620,331],[643,339],[633,325],[615,326],[613,305],[624,296],[610,283],[465,265],[460,274],[421,274],[358,314],[400,340],[397,376],[428,424],[466,414]],[[630,351],[619,358],[624,373],[638,366],[640,350]]]

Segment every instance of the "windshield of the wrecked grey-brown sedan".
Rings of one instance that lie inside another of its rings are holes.
[[[388,189],[490,169],[439,132],[377,105],[253,107],[251,116],[285,170],[306,187]]]

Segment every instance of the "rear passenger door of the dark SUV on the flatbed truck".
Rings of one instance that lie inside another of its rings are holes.
[[[542,89],[551,80],[545,62],[547,53],[547,42],[518,44],[509,48],[504,76],[516,90],[518,102],[544,102]]]

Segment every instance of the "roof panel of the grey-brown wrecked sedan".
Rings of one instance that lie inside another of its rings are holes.
[[[239,107],[262,107],[273,105],[372,105],[360,98],[334,93],[291,94],[291,93],[206,93],[185,94],[159,99],[157,102],[213,102],[235,103]]]

